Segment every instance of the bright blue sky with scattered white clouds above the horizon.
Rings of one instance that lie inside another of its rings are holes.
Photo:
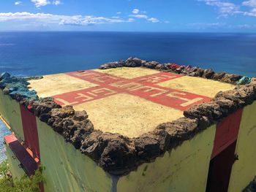
[[[1,0],[0,31],[256,32],[256,0]]]

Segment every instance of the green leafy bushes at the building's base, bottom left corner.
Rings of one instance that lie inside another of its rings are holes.
[[[31,177],[24,175],[20,180],[13,179],[10,175],[9,164],[6,161],[0,164],[0,191],[1,192],[38,192],[38,183],[44,182],[42,170],[39,166],[36,173]]]

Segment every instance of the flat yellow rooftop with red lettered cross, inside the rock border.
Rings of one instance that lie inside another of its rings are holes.
[[[159,123],[183,117],[183,111],[192,105],[235,88],[225,82],[143,67],[50,74],[29,82],[39,97],[51,96],[61,106],[86,110],[95,129],[127,137],[153,131]]]

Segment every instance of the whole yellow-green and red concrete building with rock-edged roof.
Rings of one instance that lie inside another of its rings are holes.
[[[242,191],[256,174],[256,83],[140,63],[45,75],[22,93],[2,77],[13,177],[42,164],[41,191]]]

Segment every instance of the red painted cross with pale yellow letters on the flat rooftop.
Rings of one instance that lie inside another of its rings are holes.
[[[116,93],[128,93],[133,96],[140,96],[148,101],[153,101],[177,110],[187,110],[193,104],[210,101],[210,98],[207,96],[200,96],[195,93],[178,91],[156,85],[159,82],[182,77],[180,74],[159,72],[157,74],[137,77],[132,80],[94,71],[71,72],[67,74],[81,80],[92,82],[98,86],[53,96],[56,102],[61,105],[82,104]]]

